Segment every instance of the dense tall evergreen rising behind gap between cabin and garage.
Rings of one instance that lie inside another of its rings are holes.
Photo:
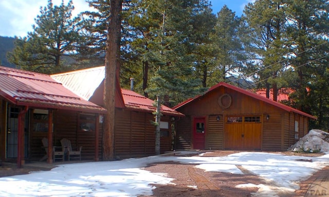
[[[194,49],[199,33],[193,26],[198,16],[209,7],[208,1],[165,1],[165,15],[157,46],[159,69],[151,78],[149,91],[162,95],[167,105],[174,105],[199,94],[201,81],[194,75]]]

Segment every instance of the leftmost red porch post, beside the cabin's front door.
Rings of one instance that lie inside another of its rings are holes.
[[[25,114],[29,110],[28,106],[25,106],[24,110],[19,113],[19,133],[17,139],[17,168],[22,168],[24,164],[24,127],[25,127]]]

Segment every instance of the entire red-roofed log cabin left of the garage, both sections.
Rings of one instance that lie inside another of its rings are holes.
[[[44,156],[52,163],[52,148],[67,138],[72,147],[83,147],[83,160],[101,160],[103,81],[104,66],[51,76],[0,66],[0,159],[17,167]],[[115,156],[154,155],[153,101],[116,86]],[[172,149],[171,118],[183,115],[164,105],[161,113],[165,152]]]

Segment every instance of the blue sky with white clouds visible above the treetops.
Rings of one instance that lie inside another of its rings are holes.
[[[72,0],[75,6],[73,15],[87,10],[85,0]],[[241,16],[243,8],[254,0],[211,0],[213,12],[216,14],[224,5]],[[0,0],[0,35],[4,37],[25,37],[32,31],[35,17],[40,14],[40,7],[47,6],[47,0]],[[62,0],[52,0],[59,5]],[[67,5],[68,0],[64,0]]]

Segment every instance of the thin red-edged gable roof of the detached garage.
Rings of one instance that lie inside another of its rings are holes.
[[[273,100],[270,100],[270,99],[268,99],[268,98],[266,98],[266,97],[260,96],[260,95],[258,95],[258,94],[253,93],[253,92],[247,91],[247,90],[242,89],[242,88],[240,88],[240,87],[236,87],[236,86],[234,86],[234,85],[230,85],[230,84],[225,83],[225,82],[220,82],[220,83],[217,83],[216,85],[210,87],[210,88],[208,89],[208,91],[207,91],[204,95],[208,94],[208,93],[211,92],[211,91],[214,91],[215,89],[217,89],[217,88],[219,88],[219,87],[221,87],[221,86],[224,86],[224,87],[227,87],[227,88],[233,89],[233,90],[236,91],[236,92],[240,92],[240,93],[245,94],[245,95],[247,95],[247,96],[250,96],[250,97],[252,97],[252,98],[254,98],[254,99],[264,101],[264,102],[266,102],[266,103],[268,103],[268,104],[274,105],[274,106],[276,106],[276,107],[278,107],[278,108],[280,108],[280,109],[282,109],[282,110],[285,110],[285,111],[287,111],[287,112],[294,112],[294,113],[297,113],[297,114],[300,114],[300,115],[303,115],[303,116],[306,116],[306,117],[309,117],[309,118],[317,119],[316,117],[314,117],[314,116],[312,116],[312,115],[309,115],[309,114],[307,114],[307,113],[305,113],[305,112],[302,112],[302,111],[296,110],[296,109],[294,109],[294,108],[291,108],[290,106],[287,106],[287,105],[284,105],[284,104],[278,103],[278,102],[273,101]],[[202,96],[204,96],[204,95],[198,95],[198,96],[196,96],[196,97],[194,97],[194,98],[192,98],[192,99],[188,99],[188,100],[186,100],[186,101],[184,101],[184,102],[181,102],[181,103],[179,103],[178,105],[174,106],[172,109],[177,110],[177,109],[180,108],[181,106],[186,105],[187,103],[192,102],[192,101],[194,101],[194,100],[197,100],[197,99],[199,99],[200,97],[202,97]]]

